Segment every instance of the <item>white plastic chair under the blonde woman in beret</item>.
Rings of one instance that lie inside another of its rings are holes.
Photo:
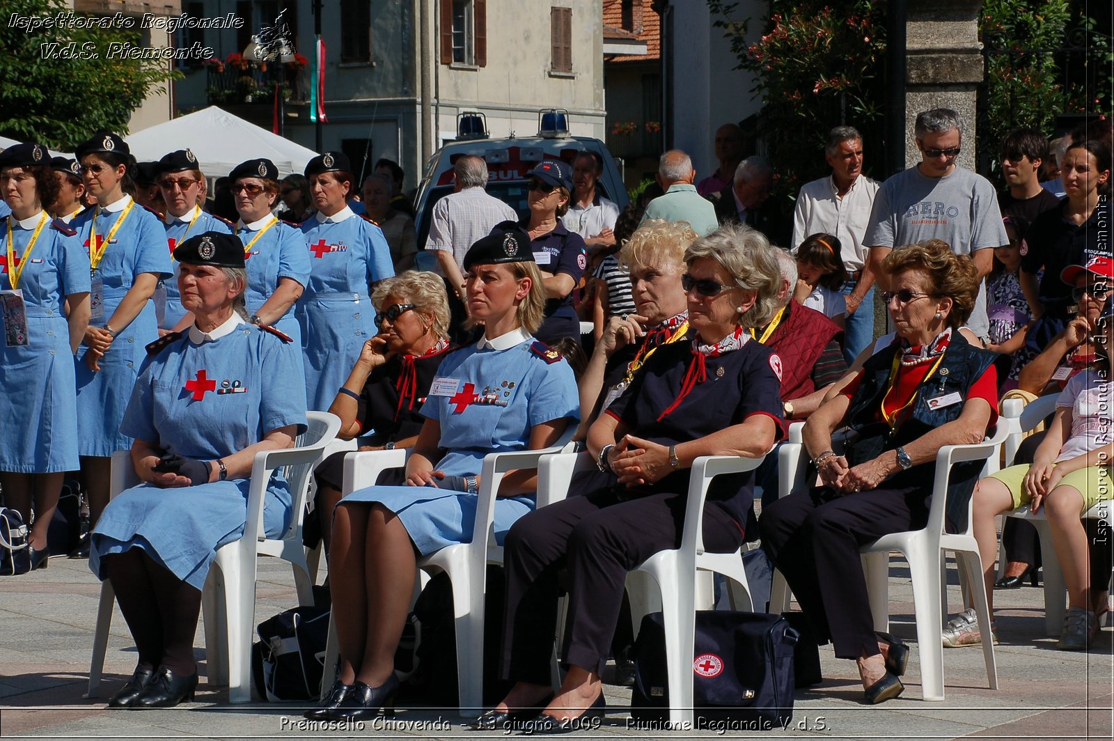
[[[495,452],[483,458],[480,470],[479,500],[476,505],[476,521],[472,537],[468,543],[459,543],[441,548],[434,554],[418,559],[420,592],[421,575],[444,572],[452,584],[453,618],[457,636],[457,680],[460,689],[460,715],[475,715],[483,700],[483,599],[487,593],[487,565],[502,564],[502,546],[495,542],[496,493],[502,477],[512,470],[537,468],[544,457],[559,452],[576,431],[568,426],[557,445],[541,450],[518,452]],[[405,466],[408,450],[373,450],[350,452],[344,456],[345,495],[375,484],[379,475],[391,468]],[[335,676],[340,650],[336,643],[334,621],[329,624],[325,645],[325,672],[321,680],[321,696],[324,699]]]

